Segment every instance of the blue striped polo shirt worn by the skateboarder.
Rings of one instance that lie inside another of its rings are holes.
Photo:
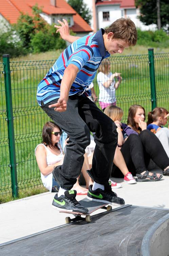
[[[93,35],[82,37],[69,45],[55,61],[53,67],[45,75],[37,88],[37,102],[41,105],[60,97],[60,84],[65,68],[70,64],[78,67],[69,96],[73,94],[90,96],[91,91],[86,89],[93,81],[97,69],[104,58],[110,56],[106,51],[103,34],[100,29]]]

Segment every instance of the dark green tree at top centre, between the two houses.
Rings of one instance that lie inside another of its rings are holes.
[[[92,15],[90,14],[89,8],[87,8],[87,4],[84,3],[83,0],[68,0],[68,3],[88,24],[90,24]]]

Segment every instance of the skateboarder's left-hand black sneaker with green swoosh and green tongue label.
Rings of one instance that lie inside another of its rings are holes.
[[[88,209],[81,206],[76,200],[76,190],[66,190],[64,196],[54,196],[52,207],[58,211],[65,212],[79,212],[82,214],[88,214]]]

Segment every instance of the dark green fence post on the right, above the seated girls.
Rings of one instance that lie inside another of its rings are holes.
[[[157,106],[153,48],[148,49],[148,57],[149,57],[150,86],[151,86],[151,109],[153,110]]]

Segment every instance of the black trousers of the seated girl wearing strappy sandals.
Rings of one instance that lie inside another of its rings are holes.
[[[121,153],[125,159],[127,168],[135,176],[147,170],[150,159],[158,167],[164,170],[169,166],[169,158],[158,138],[149,130],[137,134],[131,134],[123,147]],[[123,177],[120,170],[113,164],[113,177]]]

